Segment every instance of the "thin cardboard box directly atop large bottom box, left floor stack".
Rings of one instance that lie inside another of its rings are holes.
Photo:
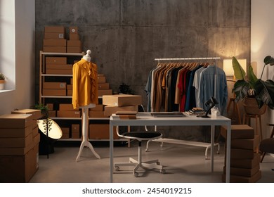
[[[34,146],[39,144],[40,141],[40,134],[33,136],[32,144],[26,147],[1,147],[0,148],[0,155],[25,155],[29,152]]]

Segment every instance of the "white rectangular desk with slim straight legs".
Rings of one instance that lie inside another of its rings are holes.
[[[196,117],[186,115],[185,117],[152,117],[150,113],[138,113],[136,120],[121,120],[118,116],[110,117],[110,182],[113,179],[113,126],[211,126],[211,172],[214,172],[214,133],[215,126],[227,126],[226,138],[226,182],[230,182],[230,139],[231,120],[227,117]]]

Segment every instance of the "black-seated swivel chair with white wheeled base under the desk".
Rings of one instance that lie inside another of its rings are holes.
[[[144,112],[143,106],[138,106],[139,112]],[[145,131],[142,132],[123,132],[122,134],[119,132],[119,127],[117,127],[117,135],[119,137],[131,140],[138,140],[138,160],[133,158],[129,158],[128,163],[115,163],[115,170],[119,170],[119,166],[134,166],[133,168],[133,176],[138,177],[138,168],[147,169],[159,169],[159,172],[162,174],[165,173],[162,165],[159,165],[159,160],[149,160],[143,161],[142,160],[142,141],[144,140],[152,140],[152,139],[159,139],[162,137],[160,132],[148,132],[147,127],[145,127]]]

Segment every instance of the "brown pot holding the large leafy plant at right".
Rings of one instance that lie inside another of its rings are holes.
[[[258,103],[256,101],[256,98],[244,98],[244,110],[245,113],[247,114],[252,114],[252,115],[263,115],[266,113],[266,104],[263,104],[261,108],[259,108]]]

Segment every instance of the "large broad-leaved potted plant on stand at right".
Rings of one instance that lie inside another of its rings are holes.
[[[274,65],[274,58],[266,56],[263,59],[263,70],[260,78],[256,77],[253,68],[249,65],[247,76],[242,66],[235,57],[232,60],[235,79],[237,80],[233,86],[235,93],[235,101],[244,101],[244,109],[249,114],[263,114],[266,106],[274,109],[274,82],[272,80],[261,80],[266,65]],[[247,103],[251,101],[251,106],[247,107]]]

